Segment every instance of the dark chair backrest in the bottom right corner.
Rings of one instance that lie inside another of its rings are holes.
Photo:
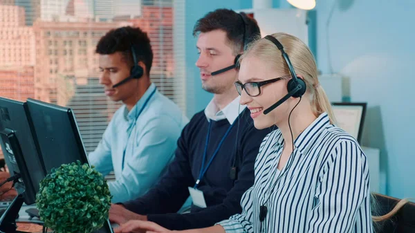
[[[378,208],[376,215],[381,216],[394,209],[398,198],[374,194]],[[376,233],[414,233],[415,232],[415,203],[405,204],[399,211],[387,221],[374,223]]]

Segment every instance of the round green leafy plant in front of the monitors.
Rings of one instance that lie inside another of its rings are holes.
[[[56,233],[90,233],[107,221],[111,198],[102,174],[77,161],[50,171],[36,206],[44,226]]]

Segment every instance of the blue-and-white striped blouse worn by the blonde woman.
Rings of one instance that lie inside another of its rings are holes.
[[[322,113],[294,145],[279,171],[282,133],[277,129],[264,138],[242,214],[218,224],[226,232],[373,232],[369,167],[358,142]],[[268,209],[262,223],[261,205]]]

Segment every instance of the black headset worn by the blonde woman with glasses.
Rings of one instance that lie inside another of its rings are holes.
[[[270,106],[268,109],[264,110],[264,114],[268,114],[270,111],[273,111],[275,108],[277,108],[277,106],[281,105],[284,101],[288,100],[289,97],[302,97],[302,95],[306,93],[306,83],[304,80],[297,77],[297,74],[294,71],[294,66],[291,64],[290,58],[288,58],[288,55],[284,51],[282,44],[279,43],[275,37],[270,35],[267,35],[265,39],[273,42],[273,44],[275,44],[275,46],[277,46],[277,48],[281,51],[282,57],[284,57],[288,69],[290,70],[291,77],[293,77],[290,81],[288,81],[287,84],[288,94],[286,94],[284,97],[282,97],[281,100],[278,100],[278,102]]]

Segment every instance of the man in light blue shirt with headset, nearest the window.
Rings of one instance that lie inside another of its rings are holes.
[[[153,51],[146,32],[132,27],[110,30],[95,52],[105,95],[123,105],[89,161],[104,176],[114,171],[116,180],[108,183],[113,203],[130,201],[145,194],[163,174],[188,120],[151,83]]]

